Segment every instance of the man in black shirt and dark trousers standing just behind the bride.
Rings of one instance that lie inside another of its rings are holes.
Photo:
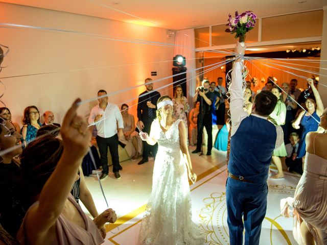
[[[146,91],[141,93],[138,98],[137,103],[137,118],[138,118],[138,125],[141,127],[143,132],[150,134],[151,124],[154,118],[156,118],[156,111],[157,111],[157,101],[160,97],[160,93],[153,90],[153,83],[151,78],[147,78],[145,80],[145,86],[147,88]],[[144,95],[144,96],[141,96]],[[155,158],[155,155],[158,151],[158,144],[149,145],[146,141],[143,142],[143,157],[142,160],[139,161],[137,164],[141,165],[145,162],[149,161],[149,154],[150,150]]]

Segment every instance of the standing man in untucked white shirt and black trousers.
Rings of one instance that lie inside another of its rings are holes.
[[[102,164],[102,175],[100,177],[100,180],[106,178],[109,172],[107,157],[108,147],[113,165],[112,171],[116,179],[121,178],[119,170],[123,169],[119,163],[118,138],[123,137],[124,135],[124,121],[118,106],[108,103],[108,96],[105,96],[106,94],[107,92],[105,90],[99,90],[99,105],[92,108],[90,116],[88,118],[88,123],[95,123],[98,131],[96,139],[99,147],[100,159]]]

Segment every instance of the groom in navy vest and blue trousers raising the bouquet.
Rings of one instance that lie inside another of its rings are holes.
[[[244,44],[244,43],[243,43]],[[244,55],[238,43],[236,53]],[[259,244],[267,209],[267,178],[272,152],[283,143],[283,130],[267,120],[277,97],[270,91],[256,95],[252,114],[243,110],[242,58],[233,67],[230,85],[231,138],[226,183],[227,223],[231,245]],[[242,216],[244,222],[242,220]]]

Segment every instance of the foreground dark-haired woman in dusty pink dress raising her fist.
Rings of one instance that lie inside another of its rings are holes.
[[[30,206],[17,233],[21,245],[98,245],[104,242],[104,224],[117,218],[107,209],[92,221],[70,193],[91,138],[87,122],[77,115],[80,102],[76,100],[63,119],[62,140],[42,136],[20,155]]]

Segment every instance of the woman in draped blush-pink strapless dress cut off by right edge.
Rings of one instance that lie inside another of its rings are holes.
[[[309,132],[303,175],[294,194],[294,209],[305,244],[327,244],[327,109],[320,116],[324,133]]]

